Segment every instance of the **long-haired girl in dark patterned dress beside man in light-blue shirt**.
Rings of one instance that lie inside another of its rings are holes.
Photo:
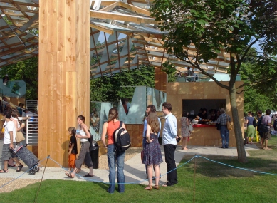
[[[158,132],[160,132],[160,123],[157,118],[157,113],[150,110],[147,116],[147,130],[146,130],[146,145],[144,149],[144,156],[142,163],[147,165],[147,174],[149,185],[145,187],[147,190],[152,189],[152,167],[155,168],[155,189],[159,189],[160,180],[160,163],[162,163],[162,152],[158,141]]]

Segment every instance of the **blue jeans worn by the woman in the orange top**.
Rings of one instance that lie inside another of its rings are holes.
[[[108,165],[109,165],[109,181],[110,187],[108,192],[115,192],[115,162],[117,164],[117,183],[118,184],[118,192],[125,191],[125,176],[124,176],[124,152],[115,152],[115,145],[108,145]]]

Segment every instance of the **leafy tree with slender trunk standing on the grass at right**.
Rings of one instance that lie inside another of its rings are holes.
[[[277,1],[155,0],[150,11],[156,21],[160,21],[160,29],[168,31],[162,38],[168,53],[197,68],[221,88],[229,90],[238,158],[239,162],[247,162],[236,107],[236,93],[244,85],[236,87],[236,76],[254,44],[258,45],[263,56],[277,54]],[[191,44],[196,48],[195,56],[189,56]],[[223,85],[200,66],[216,58],[221,50],[230,53],[229,85]],[[261,56],[256,63],[259,74],[265,71],[263,67],[271,67],[266,70],[267,76],[258,75],[257,84],[266,84],[276,78],[276,61],[271,57]]]

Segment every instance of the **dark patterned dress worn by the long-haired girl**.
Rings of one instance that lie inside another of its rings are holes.
[[[142,163],[145,165],[160,165],[160,163],[162,163],[162,152],[158,136],[154,133],[150,133],[150,140],[152,140],[152,142],[146,142],[145,149],[143,150],[144,155]]]

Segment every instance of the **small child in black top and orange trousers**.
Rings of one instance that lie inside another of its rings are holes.
[[[75,127],[69,127],[68,128],[68,133],[70,136],[69,140],[69,148],[68,148],[68,167],[69,170],[75,169],[75,160],[76,160],[76,155],[78,153],[77,151],[77,139],[76,139],[76,129]]]

